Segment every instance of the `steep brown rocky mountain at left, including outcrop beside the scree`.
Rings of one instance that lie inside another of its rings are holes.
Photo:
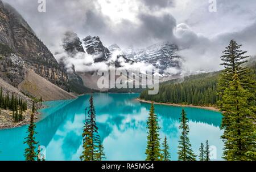
[[[61,98],[72,97],[65,94],[65,91],[71,91],[67,84],[67,72],[61,68],[51,51],[35,35],[18,11],[1,0],[0,31],[0,77],[7,84],[18,88],[32,70],[36,74],[33,76],[40,76],[52,85],[60,87],[60,92],[65,95]],[[40,98],[29,90],[27,93],[37,99]],[[54,97],[51,99],[55,100]]]

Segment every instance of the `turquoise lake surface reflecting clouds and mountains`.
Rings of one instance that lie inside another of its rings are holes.
[[[75,100],[45,102],[40,110],[43,119],[36,123],[36,140],[46,147],[47,160],[79,160],[82,152],[82,127],[90,95]],[[97,126],[103,141],[106,160],[144,160],[147,143],[146,121],[150,104],[139,102],[139,94],[94,94]],[[171,159],[177,160],[181,107],[155,105],[160,137],[167,136]],[[221,160],[222,115],[215,111],[184,108],[189,118],[189,138],[193,151],[209,140],[213,157]],[[24,160],[24,137],[27,126],[0,130],[0,160]]]

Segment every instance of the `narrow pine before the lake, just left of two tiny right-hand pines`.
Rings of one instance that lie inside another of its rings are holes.
[[[185,110],[182,109],[181,118],[180,118],[180,129],[181,136],[179,140],[179,161],[196,161],[196,156],[192,151],[191,143],[188,138],[189,134],[189,126],[188,126],[188,118],[185,113]]]

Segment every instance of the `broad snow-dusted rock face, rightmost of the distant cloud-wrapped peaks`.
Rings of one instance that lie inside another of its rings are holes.
[[[152,64],[163,73],[168,67],[180,68],[180,57],[177,55],[178,47],[170,42],[162,42],[145,49],[127,49],[126,57],[138,62]]]

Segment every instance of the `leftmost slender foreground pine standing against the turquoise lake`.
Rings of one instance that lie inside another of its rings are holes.
[[[37,160],[37,151],[35,151],[36,149],[36,145],[38,144],[38,142],[35,141],[35,128],[36,125],[34,123],[34,114],[31,114],[31,118],[30,118],[30,125],[28,126],[27,129],[27,133],[28,136],[25,138],[26,141],[24,141],[24,144],[28,145],[28,148],[25,149],[25,153],[24,153],[24,157],[26,158],[26,161],[35,161]]]

